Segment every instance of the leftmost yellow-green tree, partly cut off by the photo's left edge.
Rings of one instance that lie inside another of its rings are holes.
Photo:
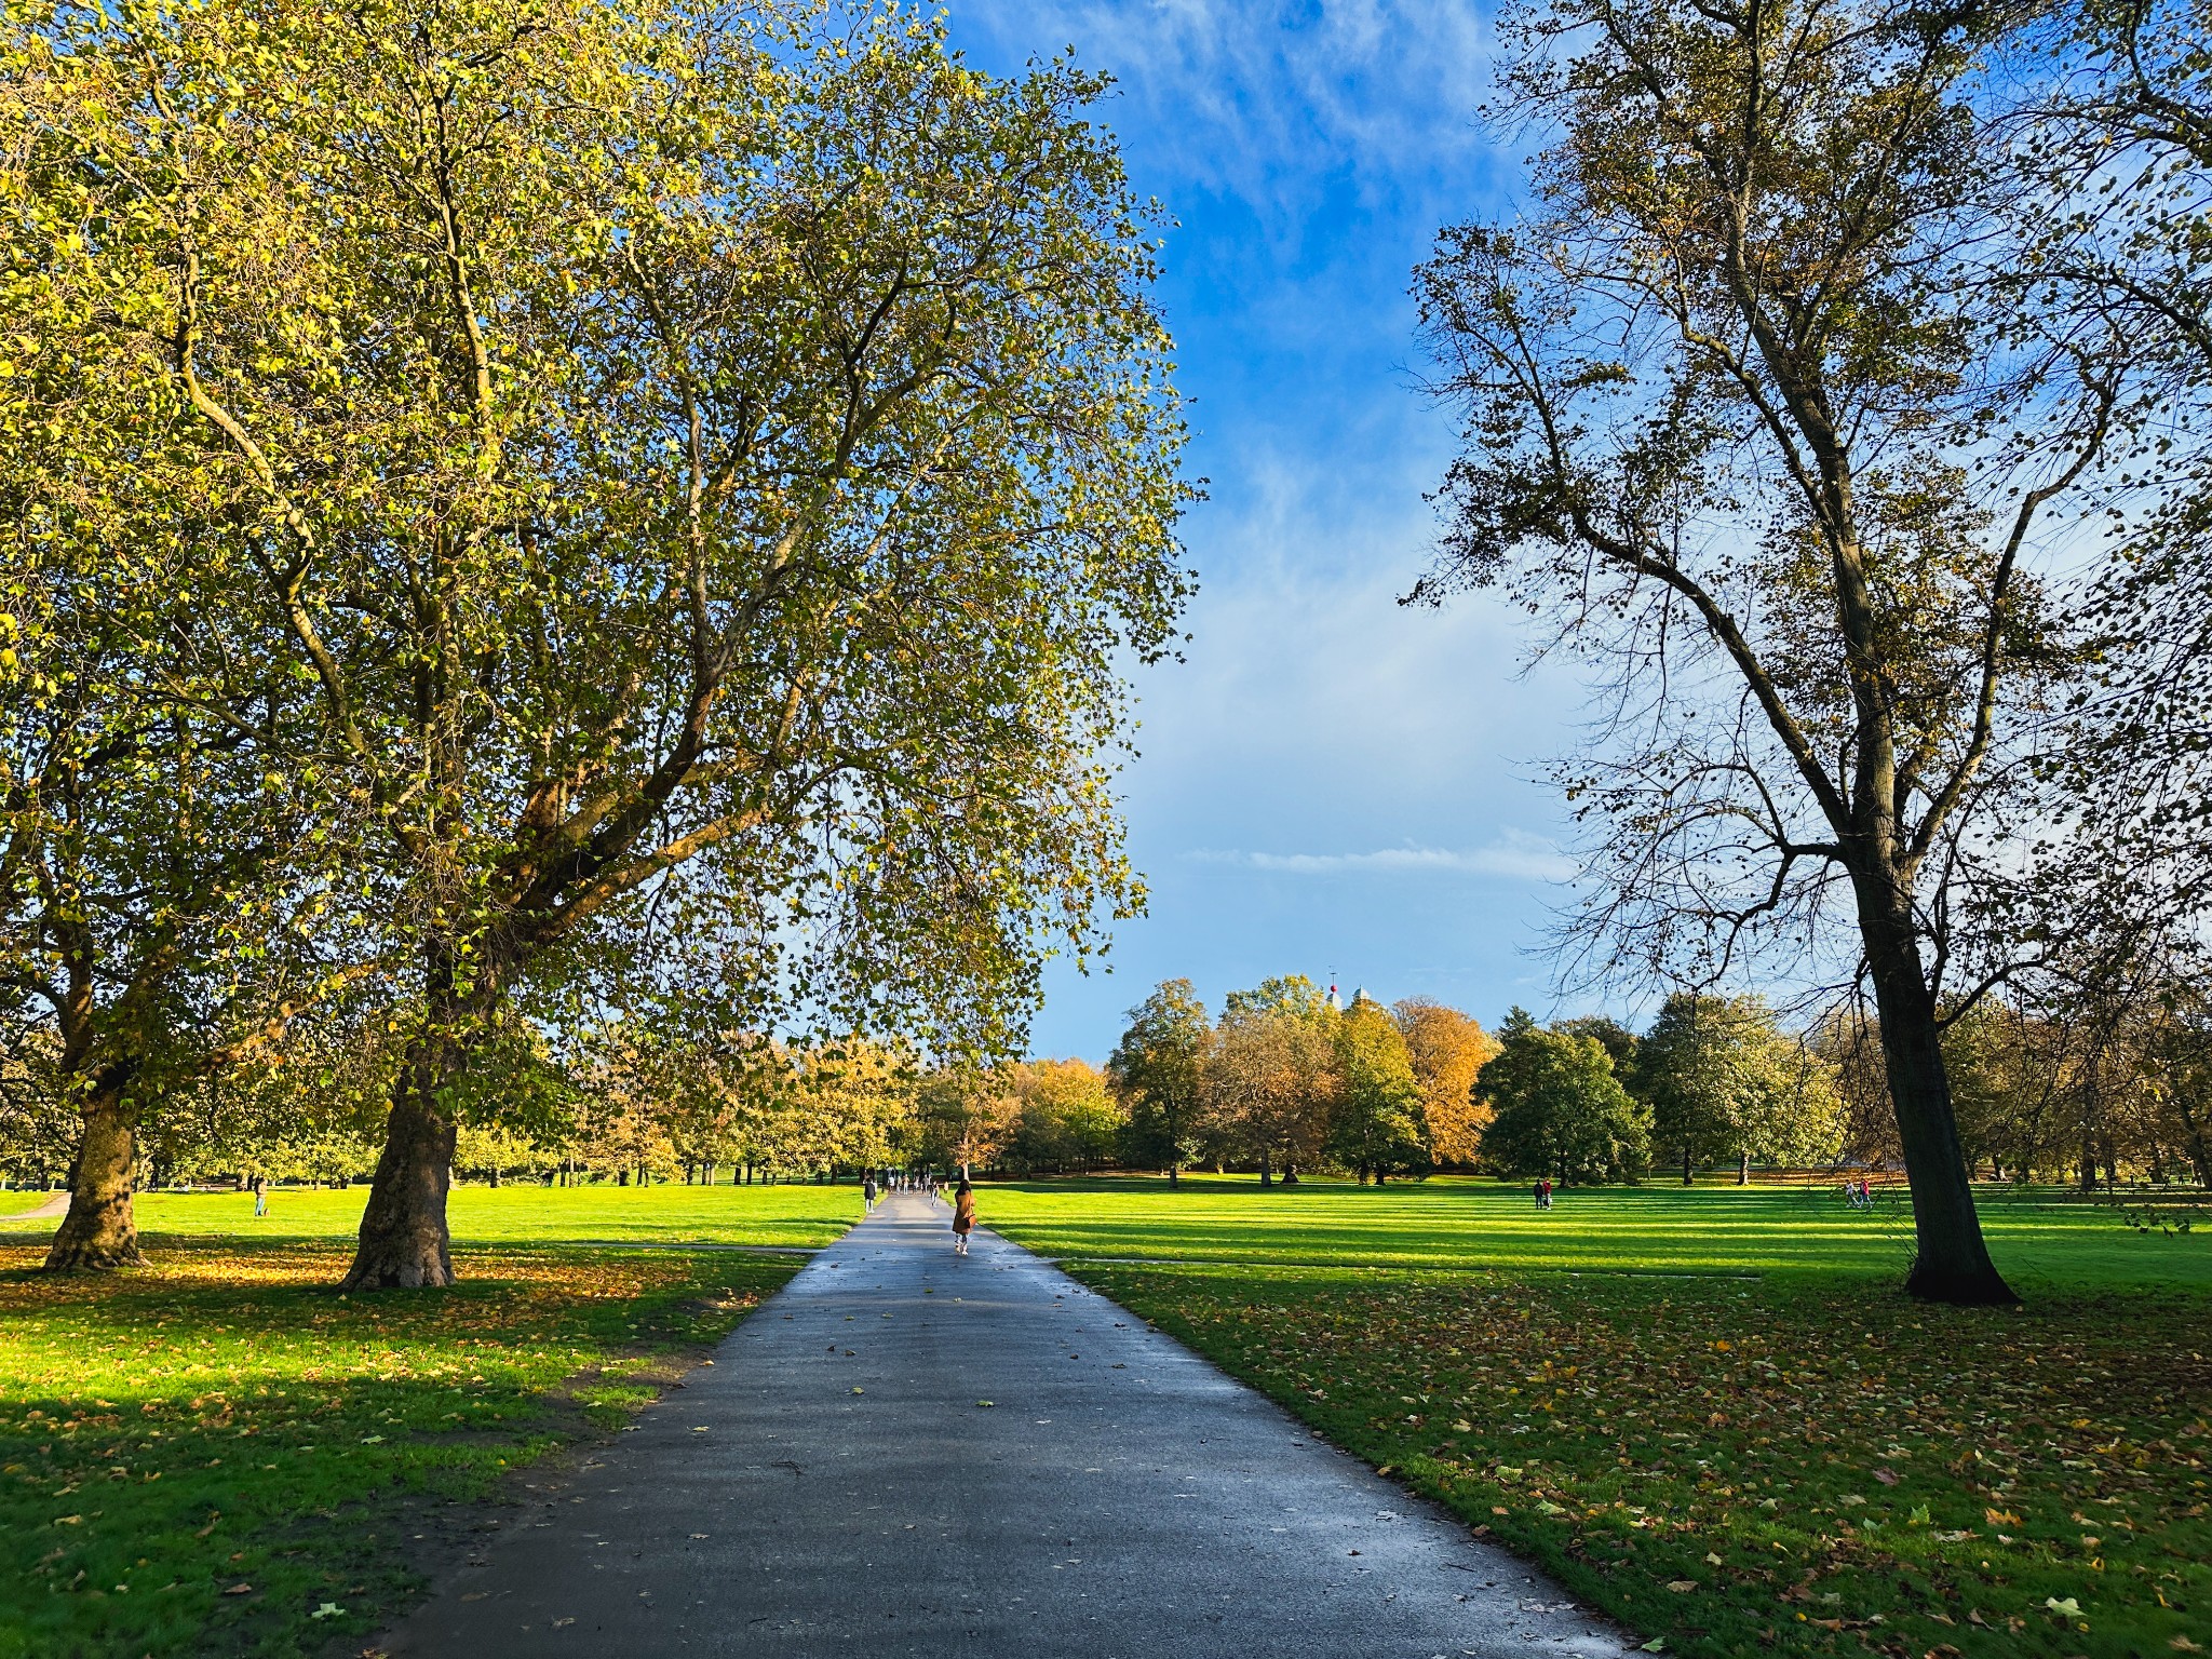
[[[104,349],[175,272],[80,131],[144,69],[73,38],[0,24],[0,1042],[75,1117],[51,1270],[139,1261],[139,1130],[310,995],[338,849],[292,765],[305,688],[232,672],[241,582],[173,467],[181,396]]]

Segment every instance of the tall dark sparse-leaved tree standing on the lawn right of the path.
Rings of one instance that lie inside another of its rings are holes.
[[[2097,456],[2101,341],[2024,341],[1975,97],[1997,7],[1562,0],[1506,22],[1546,135],[1418,276],[1467,451],[1425,597],[1506,580],[1613,692],[1571,790],[1590,938],[1712,984],[1845,945],[1913,1188],[1909,1290],[2011,1301],[1942,1064],[2062,639],[2031,568]],[[2033,347],[2033,349],[2031,349]],[[1836,918],[1840,929],[1829,933]],[[1856,964],[1856,967],[1854,967]]]

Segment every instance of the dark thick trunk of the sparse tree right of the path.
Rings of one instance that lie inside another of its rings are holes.
[[[1860,909],[1874,1004],[1882,1020],[1882,1060],[1889,1104],[1905,1148],[1905,1179],[1913,1192],[1918,1250],[1905,1290],[1938,1303],[2017,1303],[1982,1241],[1973,1181],[1958,1144],[1951,1075],[1942,1062],[1936,998],[1920,967],[1920,947],[1907,916]]]

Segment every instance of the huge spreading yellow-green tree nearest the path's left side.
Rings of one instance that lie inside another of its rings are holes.
[[[82,144],[175,274],[97,347],[190,407],[411,980],[347,1283],[451,1281],[526,987],[1011,1046],[1137,902],[1117,661],[1186,591],[1102,82],[801,7],[73,29],[142,64]]]

